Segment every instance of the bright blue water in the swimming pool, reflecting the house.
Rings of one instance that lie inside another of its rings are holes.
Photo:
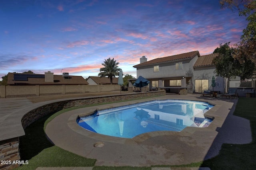
[[[182,131],[187,126],[207,127],[204,113],[213,106],[188,100],[154,100],[99,110],[78,118],[78,124],[95,133],[133,138],[152,131]]]

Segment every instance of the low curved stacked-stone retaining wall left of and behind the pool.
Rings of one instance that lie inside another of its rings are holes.
[[[120,86],[119,86],[120,88]],[[112,88],[113,90],[114,88]],[[87,97],[82,99],[74,99],[74,100],[65,100],[57,101],[49,104],[44,104],[40,107],[35,107],[34,109],[28,111],[27,113],[20,113],[23,115],[20,120],[21,126],[23,129],[26,129],[28,125],[33,123],[34,121],[48,115],[50,113],[56,113],[62,109],[70,108],[70,107],[78,107],[90,104],[100,104],[107,102],[117,102],[122,100],[130,100],[136,98],[144,98],[151,96],[164,96],[166,93],[164,90],[162,91],[154,91],[154,92],[140,92],[133,94],[118,94],[111,96],[96,96],[96,97]],[[21,128],[22,128],[21,127]],[[22,135],[20,135],[22,136]],[[19,152],[19,137],[14,137],[11,139],[5,139],[4,141],[0,141],[0,161],[2,162],[13,162],[20,160],[20,152]],[[26,161],[26,160],[24,160]],[[0,170],[11,170],[20,166],[20,164],[0,164]]]

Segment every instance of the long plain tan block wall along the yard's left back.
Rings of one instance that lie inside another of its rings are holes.
[[[0,86],[0,98],[112,92],[118,90],[120,90],[120,85],[118,84]]]

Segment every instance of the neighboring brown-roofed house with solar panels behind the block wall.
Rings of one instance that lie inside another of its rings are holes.
[[[8,85],[88,85],[82,76],[69,76],[68,73],[54,75],[53,72],[45,74],[8,73]]]

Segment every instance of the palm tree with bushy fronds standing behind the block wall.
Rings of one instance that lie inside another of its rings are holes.
[[[106,77],[108,76],[108,78],[110,79],[110,84],[113,83],[113,77],[118,76],[118,71],[120,70],[120,68],[118,68],[119,63],[116,63],[116,61],[114,61],[113,59],[108,58],[107,60],[105,59],[104,63],[102,63],[102,65],[104,65],[103,68],[100,68],[100,73],[98,74],[98,76],[100,77]]]

